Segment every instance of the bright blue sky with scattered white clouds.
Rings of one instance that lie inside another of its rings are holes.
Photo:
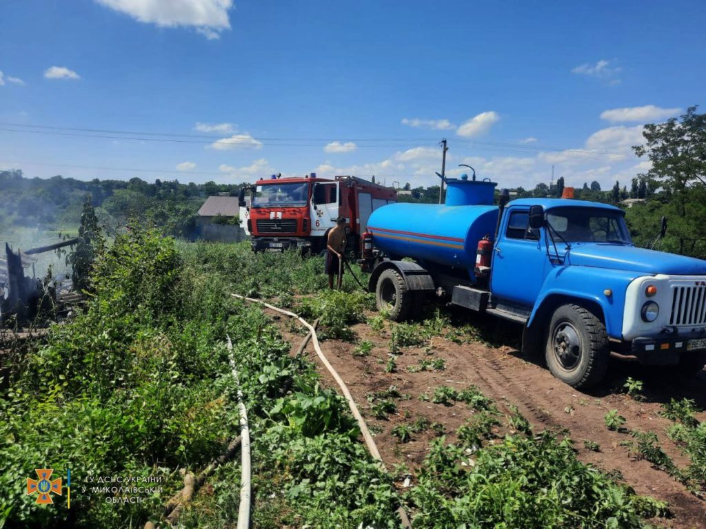
[[[451,173],[607,188],[649,167],[642,123],[706,94],[702,0],[5,0],[0,22],[0,168],[43,178],[429,186],[448,138]]]

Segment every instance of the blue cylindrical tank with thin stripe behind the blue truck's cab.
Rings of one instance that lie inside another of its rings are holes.
[[[397,203],[376,209],[368,230],[389,257],[464,268],[474,279],[478,241],[493,236],[497,221],[498,207],[493,205]]]

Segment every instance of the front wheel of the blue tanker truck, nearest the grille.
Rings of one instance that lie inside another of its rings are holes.
[[[609,356],[606,327],[593,312],[573,304],[554,311],[545,350],[552,375],[576,389],[590,388],[605,376]]]

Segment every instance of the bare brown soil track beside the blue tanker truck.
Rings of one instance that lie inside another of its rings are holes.
[[[273,313],[274,314],[274,313]],[[285,337],[292,342],[296,351],[302,336],[291,332],[279,316]],[[491,336],[491,344],[481,342],[455,343],[441,336],[431,339],[421,347],[403,348],[397,357],[397,372],[385,372],[388,360],[390,333],[375,334],[367,324],[354,327],[360,340],[375,344],[371,354],[364,357],[353,355],[355,344],[342,341],[325,341],[321,344],[330,363],[349,387],[361,413],[373,431],[376,431],[376,444],[383,461],[389,469],[397,463],[406,463],[414,471],[421,466],[429,451],[429,442],[436,435],[427,430],[412,434],[408,443],[400,443],[391,434],[393,427],[400,423],[409,425],[419,416],[431,422],[444,425],[448,442],[455,440],[455,430],[474,413],[464,403],[453,406],[420,401],[420,394],[433,394],[435,387],[446,385],[464,389],[470,384],[477,386],[486,396],[493,399],[501,412],[510,413],[509,406],[517,406],[520,413],[530,421],[534,431],[566,430],[575,442],[578,457],[605,471],[618,471],[622,479],[638,494],[649,495],[669,502],[674,518],[656,521],[659,525],[678,529],[706,527],[706,501],[691,494],[686,487],[675,481],[662,470],[652,467],[652,463],[636,460],[628,448],[619,443],[632,439],[629,434],[611,432],[604,424],[604,415],[617,410],[626,418],[628,430],[654,432],[659,437],[662,449],[674,459],[677,466],[688,465],[678,447],[666,437],[665,430],[671,424],[659,415],[661,405],[671,398],[694,399],[700,408],[706,408],[706,372],[692,380],[664,377],[659,369],[649,370],[634,363],[611,362],[609,375],[599,387],[590,391],[578,391],[559,382],[543,365],[542,358],[523,355],[517,351],[521,328],[515,324],[495,320],[485,322],[486,338]],[[426,351],[425,351],[426,349]],[[316,358],[311,344],[306,354],[318,365],[323,381],[337,387],[333,378]],[[409,372],[407,367],[419,364],[419,360],[443,358],[446,368],[439,372]],[[663,371],[663,370],[662,370]],[[631,376],[645,382],[641,399],[633,399],[622,389],[626,377]],[[384,391],[391,385],[397,387],[410,399],[395,399],[397,413],[388,420],[378,420],[371,411],[367,396],[373,391]],[[698,414],[699,420],[706,420],[706,413]],[[584,446],[584,440],[596,442],[600,451],[591,451]]]

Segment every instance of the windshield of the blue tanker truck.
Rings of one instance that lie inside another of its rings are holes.
[[[592,207],[558,207],[546,214],[546,220],[553,228],[550,233],[556,231],[569,243],[632,244],[621,212]]]

